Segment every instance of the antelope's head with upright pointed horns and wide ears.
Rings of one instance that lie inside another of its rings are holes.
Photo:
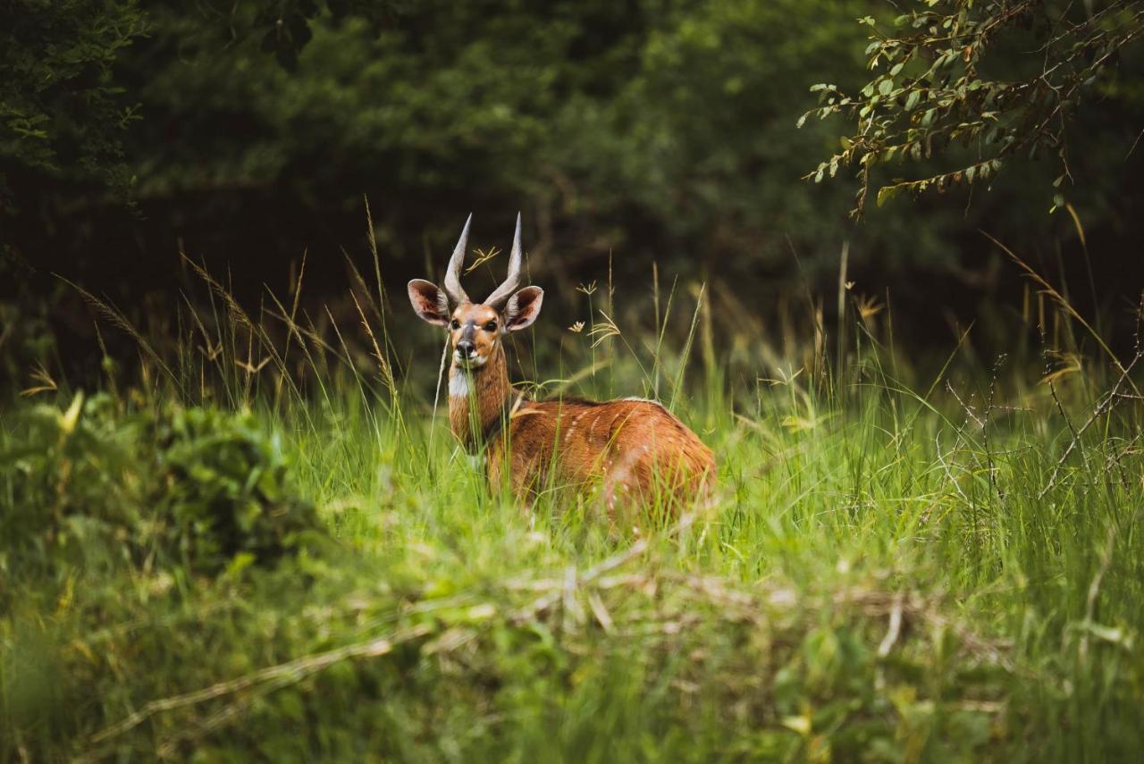
[[[513,252],[508,258],[508,278],[485,297],[474,302],[461,288],[461,264],[469,244],[469,225],[472,215],[464,222],[464,230],[453,249],[445,271],[445,288],[424,279],[410,281],[410,302],[423,321],[447,326],[452,337],[453,363],[456,366],[477,369],[488,363],[500,350],[501,337],[508,332],[518,332],[537,320],[545,291],[527,286],[517,291],[521,284],[521,215],[516,216],[516,233],[513,236]]]

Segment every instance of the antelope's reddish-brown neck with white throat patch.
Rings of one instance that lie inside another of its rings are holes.
[[[462,368],[454,361],[448,369],[448,392],[450,429],[466,449],[479,449],[500,431],[513,403],[503,349],[498,344],[479,368]]]

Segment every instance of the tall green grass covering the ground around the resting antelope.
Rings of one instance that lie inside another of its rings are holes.
[[[841,288],[839,336],[811,303],[768,342],[717,289],[654,278],[645,317],[586,286],[514,374],[657,395],[720,462],[713,504],[629,524],[488,491],[380,268],[318,317],[301,278],[251,315],[200,274],[173,337],[87,295],[142,373],[0,420],[0,759],[1138,756],[1139,352],[1059,293],[1026,316],[1047,366],[963,337],[925,371]],[[193,459],[156,435],[186,407]],[[275,539],[316,508],[312,542],[197,562],[252,501]]]

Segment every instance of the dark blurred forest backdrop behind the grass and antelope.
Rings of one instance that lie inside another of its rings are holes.
[[[347,257],[372,268],[366,200],[398,325],[413,321],[405,281],[439,278],[468,213],[487,249],[508,246],[519,209],[557,327],[587,318],[575,287],[610,271],[629,305],[648,304],[653,262],[665,281],[708,285],[716,332],[744,312],[771,331],[807,294],[828,296],[828,323],[847,246],[855,294],[889,302],[919,352],[972,321],[1003,343],[1028,329],[1014,320],[1028,282],[988,233],[1130,341],[1115,325],[1144,284],[1141,50],[1117,50],[1070,114],[1064,183],[1052,161],[1015,156],[987,183],[869,201],[857,221],[852,168],[803,178],[852,126],[796,122],[818,103],[812,85],[861,88],[871,27],[857,19],[897,13],[866,0],[0,2],[0,335],[17,359],[5,373],[23,374],[42,348],[19,345],[45,336],[70,373],[95,371],[92,311],[62,279],[133,320],[174,320],[181,293],[201,288],[181,253],[252,310],[267,288],[288,293],[307,253],[303,303],[336,315]],[[1030,41],[998,45],[991,77],[1031,56]],[[500,268],[472,278],[491,286]]]

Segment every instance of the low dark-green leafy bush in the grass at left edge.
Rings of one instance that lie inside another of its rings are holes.
[[[251,417],[175,408],[121,416],[106,396],[32,406],[0,451],[0,574],[271,564],[318,526],[280,444]],[[62,582],[62,581],[61,581]],[[13,596],[0,588],[0,604]]]

